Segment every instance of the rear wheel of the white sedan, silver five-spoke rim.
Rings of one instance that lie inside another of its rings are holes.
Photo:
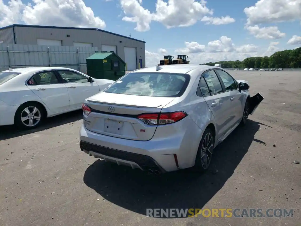
[[[26,109],[28,112],[26,112]],[[36,110],[34,111],[34,109]],[[22,121],[21,118],[26,117],[28,119]],[[17,109],[14,121],[15,125],[20,129],[29,130],[40,126],[44,121],[44,117],[45,109],[41,104],[37,102],[26,102]],[[39,120],[37,118],[39,118]],[[30,124],[30,121],[32,122],[32,125]]]

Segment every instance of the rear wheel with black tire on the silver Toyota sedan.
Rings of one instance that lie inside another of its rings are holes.
[[[207,138],[209,138],[209,139],[207,140]],[[206,149],[206,148],[204,149],[204,144],[205,144],[204,142],[208,143],[208,146],[210,147],[209,149]],[[201,139],[199,148],[197,150],[197,156],[196,156],[195,164],[194,164],[194,171],[198,171],[198,172],[207,171],[207,169],[210,166],[212,156],[213,156],[214,142],[215,142],[214,134],[211,129],[207,128],[203,133],[203,137]],[[206,166],[204,164],[204,162],[205,162],[204,158],[206,158],[206,163],[207,163]]]

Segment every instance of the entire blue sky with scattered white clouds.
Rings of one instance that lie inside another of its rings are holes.
[[[147,65],[157,64],[164,54],[186,54],[192,63],[205,63],[301,46],[300,11],[301,0],[0,0],[0,26],[97,27],[131,33],[146,42]]]

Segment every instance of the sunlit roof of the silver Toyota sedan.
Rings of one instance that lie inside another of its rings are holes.
[[[161,67],[159,71],[157,71],[157,67]],[[137,73],[137,72],[161,72],[161,73],[178,73],[178,74],[190,74],[190,71],[195,69],[200,71],[206,71],[208,69],[221,69],[221,67],[216,66],[208,66],[208,65],[201,65],[201,64],[170,64],[170,65],[162,65],[162,66],[154,66],[154,67],[144,67],[130,73]]]

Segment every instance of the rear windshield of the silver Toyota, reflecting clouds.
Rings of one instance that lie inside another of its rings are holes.
[[[104,92],[137,96],[179,97],[185,92],[189,80],[188,74],[129,73]]]

